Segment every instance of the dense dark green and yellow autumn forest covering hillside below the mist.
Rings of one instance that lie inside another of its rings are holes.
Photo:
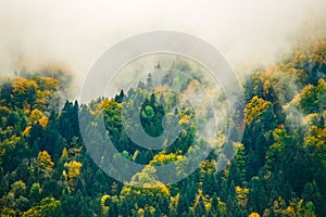
[[[233,161],[216,171],[218,156],[212,151],[189,177],[164,186],[152,175],[154,166],[196,152],[195,114],[191,106],[175,111],[183,130],[172,145],[158,151],[135,145],[122,125],[122,104],[133,106],[133,101],[149,95],[138,111],[145,131],[154,137],[162,133],[166,107],[175,103],[168,95],[149,94],[150,76],[137,89],[88,105],[62,105],[64,74],[25,72],[1,78],[0,214],[325,216],[325,80],[326,41],[321,39],[252,73],[243,81],[246,129]],[[172,81],[167,76],[164,82]],[[187,90],[191,82],[183,85]],[[129,161],[148,165],[130,181],[156,188],[121,183],[103,173],[83,144],[78,112],[102,117],[116,149]],[[223,133],[217,139],[223,145]]]

